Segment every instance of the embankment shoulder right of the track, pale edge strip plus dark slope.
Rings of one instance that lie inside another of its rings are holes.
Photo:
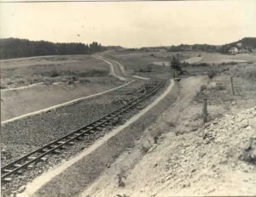
[[[140,138],[144,128],[176,100],[177,93],[177,84],[170,82],[164,93],[126,121],[125,125],[115,128],[72,160],[36,178],[27,186],[26,192],[19,196],[78,196],[124,149],[131,147]]]

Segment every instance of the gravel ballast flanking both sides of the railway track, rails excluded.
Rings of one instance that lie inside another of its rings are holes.
[[[64,134],[74,131],[79,127],[83,127],[91,121],[95,121],[99,117],[102,117],[102,115],[106,115],[118,109],[129,100],[143,95],[143,87],[147,86],[147,84],[145,85],[145,82],[135,82],[132,86],[124,87],[97,98],[86,99],[78,104],[68,105],[42,115],[32,116],[4,125],[1,135],[5,138],[5,142],[8,143],[4,143],[2,146],[4,146],[4,149],[7,149],[11,155],[7,158],[2,157],[2,164],[5,165],[15,160],[17,157],[31,152],[33,149],[38,149],[44,144],[48,144],[49,141],[55,138],[60,138]],[[155,96],[157,96],[157,94]],[[154,98],[148,98],[147,102],[151,102],[152,99]],[[119,124],[122,124],[129,116],[136,114],[147,105],[147,102],[124,115]],[[73,111],[75,113],[71,114]],[[110,128],[111,127],[104,129],[105,131],[93,137],[94,139],[92,138],[90,143],[84,144],[83,141],[81,143],[79,142],[72,146],[71,149],[63,150],[64,153],[62,151],[61,155],[49,156],[46,163],[39,162],[36,164],[36,169],[25,172],[21,177],[15,177],[15,181],[12,183],[3,185],[2,189],[4,193],[9,194],[11,191],[19,189],[20,186],[31,181],[34,177],[37,177],[39,174],[49,169],[49,167],[55,166],[67,160],[70,156],[89,147],[97,138],[101,138],[106,132],[111,131]],[[18,132],[20,132],[21,138],[12,138],[12,136],[17,135]]]

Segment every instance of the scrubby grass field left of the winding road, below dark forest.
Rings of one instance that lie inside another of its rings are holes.
[[[1,88],[22,87],[34,83],[101,81],[109,76],[106,63],[89,55],[65,55],[0,62]],[[107,80],[107,81],[108,81]]]

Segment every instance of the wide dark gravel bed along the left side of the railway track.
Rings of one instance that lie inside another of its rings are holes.
[[[96,98],[84,99],[40,115],[4,124],[1,128],[1,147],[7,149],[10,155],[8,158],[2,158],[2,165],[9,163],[10,158],[25,155],[32,149],[48,144],[117,110],[125,102],[142,95],[137,89],[143,84],[142,81],[134,82],[128,87]]]

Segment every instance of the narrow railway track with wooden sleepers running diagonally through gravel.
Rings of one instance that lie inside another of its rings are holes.
[[[78,130],[71,132],[55,141],[44,145],[39,149],[32,151],[31,153],[20,157],[19,159],[9,163],[1,168],[2,177],[1,182],[11,182],[12,177],[15,174],[22,174],[26,169],[34,167],[36,162],[45,161],[47,158],[45,156],[51,155],[53,153],[61,154],[61,149],[65,149],[65,146],[74,144],[77,140],[83,140],[84,137],[88,137],[95,132],[101,132],[101,129],[107,127],[114,118],[124,115],[126,112],[136,107],[137,104],[141,104],[143,100],[150,97],[156,93],[160,87],[163,87],[165,81],[159,82],[156,86],[148,90],[141,97],[136,98],[120,107],[118,110],[114,110],[108,115],[102,116],[102,118],[91,122],[89,125],[79,128]]]

